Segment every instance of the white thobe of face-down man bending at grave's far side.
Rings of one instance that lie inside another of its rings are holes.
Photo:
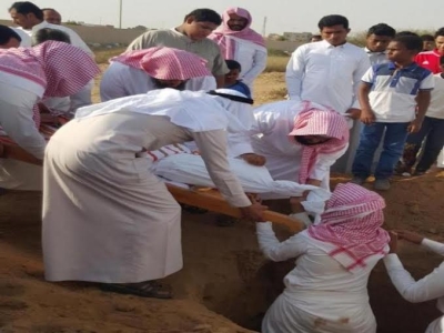
[[[313,103],[314,108],[326,110]],[[294,118],[303,110],[299,101],[281,101],[254,109],[255,122],[252,128],[253,150],[266,158],[265,167],[274,180],[299,182],[300,161],[303,148],[291,142],[289,133],[294,128]],[[346,148],[330,154],[319,154],[310,179],[322,181],[329,189],[330,167],[344,154]]]

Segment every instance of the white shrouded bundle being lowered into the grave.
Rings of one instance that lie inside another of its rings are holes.
[[[229,161],[244,191],[258,193],[262,199],[301,196],[304,191],[310,191],[307,201],[302,202],[302,205],[312,214],[321,213],[324,210],[324,202],[330,199],[331,193],[317,186],[274,181],[265,167],[254,167],[241,159],[229,159]],[[167,157],[157,163],[154,173],[174,182],[214,188],[200,155],[183,153]]]

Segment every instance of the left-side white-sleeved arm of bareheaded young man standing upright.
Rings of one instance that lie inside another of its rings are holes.
[[[286,65],[285,81],[286,90],[291,100],[301,100],[302,93],[302,79],[305,73],[305,54],[304,48],[297,48],[290,58]]]

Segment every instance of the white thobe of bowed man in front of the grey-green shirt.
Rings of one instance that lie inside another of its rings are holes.
[[[212,75],[192,78],[186,81],[185,90],[214,90],[215,79]],[[153,79],[143,70],[123,64],[111,62],[111,65],[103,73],[100,82],[100,98],[102,102],[119,99],[122,97],[147,93],[159,89]]]

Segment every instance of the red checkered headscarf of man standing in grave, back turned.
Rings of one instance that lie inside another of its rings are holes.
[[[381,228],[384,208],[384,199],[377,193],[352,183],[339,184],[326,202],[321,223],[307,232],[313,239],[333,244],[329,254],[346,262],[345,269],[353,272],[365,268],[369,256],[386,253],[390,236]]]

